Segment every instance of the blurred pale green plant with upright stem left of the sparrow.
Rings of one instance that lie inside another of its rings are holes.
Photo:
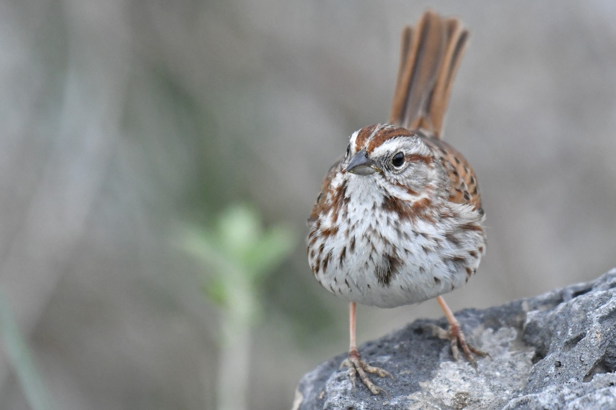
[[[263,319],[264,279],[290,253],[290,229],[265,229],[248,205],[225,210],[211,229],[190,227],[184,248],[206,267],[204,293],[221,307],[217,407],[247,409],[251,328]]]

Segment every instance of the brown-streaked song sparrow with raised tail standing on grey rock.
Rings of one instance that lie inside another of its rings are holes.
[[[458,321],[440,296],[475,273],[485,251],[484,211],[471,165],[440,140],[453,79],[468,39],[456,18],[424,13],[402,32],[389,124],[352,133],[331,168],[309,219],[308,259],[315,278],[350,302],[351,347],[342,366],[355,384],[384,390],[360,360],[355,302],[396,307],[437,298],[458,345],[476,367]],[[447,334],[447,333],[446,333]],[[384,392],[386,393],[386,392]]]

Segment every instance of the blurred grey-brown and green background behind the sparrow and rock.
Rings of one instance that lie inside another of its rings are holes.
[[[614,2],[0,0],[0,408],[290,408],[348,343],[306,218],[426,7],[471,30],[445,139],[487,213],[452,309],[616,266]]]

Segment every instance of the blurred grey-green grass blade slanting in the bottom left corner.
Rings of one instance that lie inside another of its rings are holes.
[[[17,373],[17,379],[30,407],[33,410],[53,409],[51,397],[36,370],[30,349],[20,333],[15,316],[2,290],[0,290],[0,336],[4,353]]]

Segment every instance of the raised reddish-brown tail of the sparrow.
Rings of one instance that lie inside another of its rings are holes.
[[[428,10],[402,30],[400,66],[389,123],[440,138],[453,79],[468,40],[457,18]]]

